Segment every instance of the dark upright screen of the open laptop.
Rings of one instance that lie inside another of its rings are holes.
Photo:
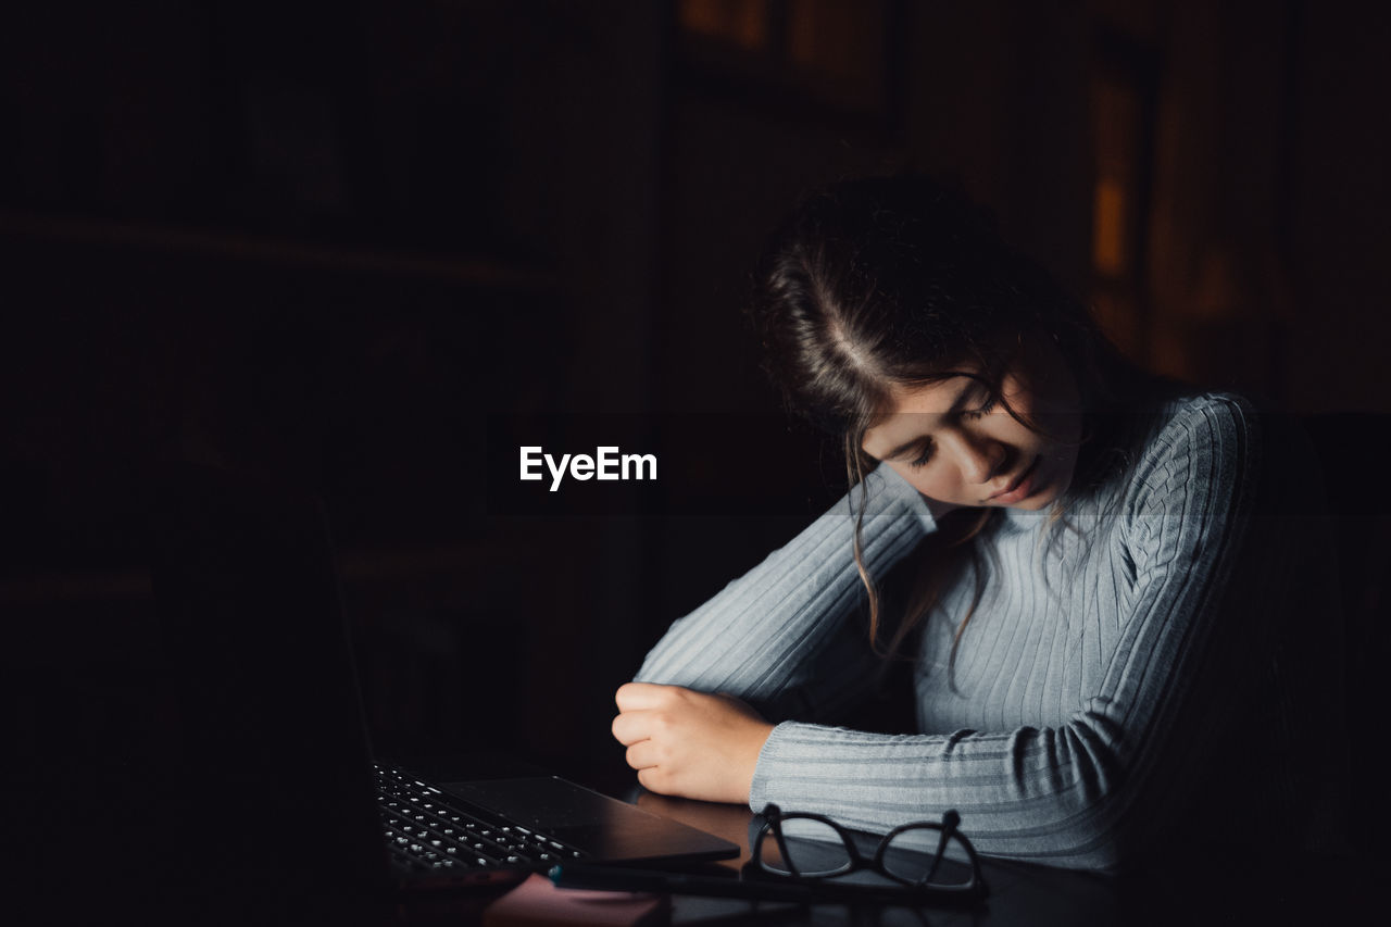
[[[182,800],[227,882],[387,884],[370,746],[317,502],[198,466],[152,490]]]

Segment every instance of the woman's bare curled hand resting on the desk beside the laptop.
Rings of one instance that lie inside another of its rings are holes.
[[[748,803],[773,725],[739,699],[629,682],[613,696],[613,736],[644,788],[705,802]]]

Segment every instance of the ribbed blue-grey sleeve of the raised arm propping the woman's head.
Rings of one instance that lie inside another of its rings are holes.
[[[814,696],[805,683],[815,657],[850,631],[864,594],[851,553],[862,493],[862,553],[871,576],[936,528],[921,493],[890,468],[875,468],[791,541],[673,622],[636,679],[727,692],[771,717],[808,717],[843,703],[871,675],[862,658],[828,661],[832,678],[818,675]]]

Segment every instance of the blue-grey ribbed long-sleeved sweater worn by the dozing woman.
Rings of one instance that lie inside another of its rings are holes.
[[[1309,523],[1249,530],[1257,502],[1278,508],[1292,484],[1259,479],[1262,429],[1245,399],[1178,399],[1136,434],[1135,466],[1070,507],[1077,530],[1017,509],[989,522],[976,541],[986,592],[954,692],[946,665],[970,568],[925,625],[918,732],[823,724],[868,695],[876,668],[849,502],[868,487],[872,576],[935,530],[886,466],[676,621],[637,679],[729,692],[780,721],[758,757],[755,810],[776,802],[882,832],[954,807],[981,852],[1091,869],[1125,862],[1198,806],[1209,831],[1255,838],[1305,782],[1292,760],[1306,706],[1291,688],[1328,678],[1312,658],[1302,681],[1283,671],[1278,656],[1288,664],[1308,642],[1274,615],[1317,600],[1287,579],[1327,575],[1280,540]]]

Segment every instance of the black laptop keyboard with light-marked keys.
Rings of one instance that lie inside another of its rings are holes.
[[[392,863],[410,873],[545,869],[586,853],[502,817],[485,820],[449,796],[387,766],[377,766],[377,807]]]

